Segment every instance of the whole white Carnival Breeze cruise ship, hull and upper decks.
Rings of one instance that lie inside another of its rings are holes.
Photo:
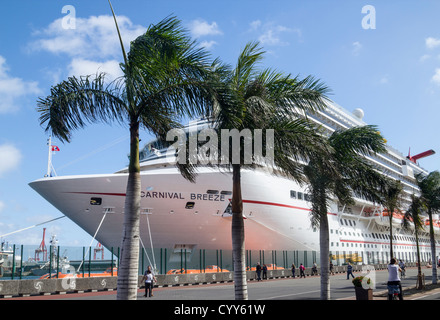
[[[361,109],[348,112],[333,102],[309,118],[329,134],[366,125]],[[207,120],[199,120],[187,129],[199,130],[207,125]],[[170,163],[167,152],[169,149],[158,141],[148,143],[140,152],[142,245],[173,252],[230,250],[232,174],[199,167],[196,182],[189,182]],[[419,193],[414,175],[428,172],[388,144],[386,153],[370,156],[369,160],[384,174],[402,182],[405,210],[411,195]],[[125,168],[111,174],[44,177],[30,186],[87,233],[96,234],[105,247],[117,248],[122,235],[127,177]],[[311,227],[307,189],[258,170],[242,170],[241,183],[247,250],[319,251],[319,230]],[[353,206],[341,206],[335,200],[329,210],[334,262],[342,263],[347,257],[367,264],[389,261],[387,211],[378,204],[355,200]],[[401,218],[393,218],[395,255],[416,261],[414,231],[404,230]],[[435,230],[440,235],[437,224]],[[435,260],[431,257],[428,232],[426,229],[420,235],[423,261]]]

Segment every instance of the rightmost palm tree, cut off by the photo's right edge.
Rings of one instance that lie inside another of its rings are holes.
[[[440,172],[433,171],[427,176],[423,174],[416,175],[417,184],[420,188],[421,198],[426,207],[429,218],[429,237],[431,242],[431,257],[436,259],[434,221],[433,214],[440,211]],[[432,263],[432,283],[437,283],[437,263]]]

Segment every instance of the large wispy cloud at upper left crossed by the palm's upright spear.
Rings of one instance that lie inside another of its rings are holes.
[[[118,59],[122,61],[121,48],[112,16],[76,18],[75,29],[64,29],[63,18],[52,22],[46,29],[36,32],[40,39],[30,44],[30,50],[44,50],[83,59]],[[125,16],[118,16],[118,25],[128,52],[130,41],[145,33],[146,28],[134,25]]]

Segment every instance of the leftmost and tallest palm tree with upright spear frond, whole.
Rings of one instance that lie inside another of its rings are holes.
[[[110,2],[110,1],[109,1]],[[110,4],[111,6],[111,4]],[[113,12],[113,8],[112,8]],[[115,14],[116,28],[119,28]],[[87,123],[117,121],[130,130],[130,160],[125,199],[118,299],[136,299],[139,260],[141,177],[139,130],[157,136],[177,125],[178,117],[193,117],[209,109],[213,97],[208,54],[196,47],[181,23],[167,17],[150,25],[125,53],[123,76],[105,84],[105,75],[69,77],[38,100],[46,131],[69,142],[71,132]],[[181,167],[183,168],[183,167]]]

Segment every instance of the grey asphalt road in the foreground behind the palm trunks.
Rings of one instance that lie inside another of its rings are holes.
[[[426,283],[431,282],[431,269],[423,268]],[[407,270],[407,276],[402,279],[402,286],[414,287],[416,284],[417,269]],[[355,276],[365,275],[362,272],[356,272]],[[386,290],[388,271],[377,270],[370,273],[372,279],[376,279],[374,292]],[[330,278],[331,282],[331,300],[353,300],[354,288],[350,280],[347,280],[346,274],[335,274]],[[143,289],[138,291],[138,300],[151,301],[233,301],[234,285],[233,283],[219,283],[194,286],[180,286],[155,288],[154,297],[145,298]],[[299,279],[298,277],[284,279],[269,279],[264,281],[248,282],[249,300],[252,301],[291,301],[291,300],[320,300],[320,277],[313,276]],[[439,299],[438,293],[420,297],[421,300]],[[89,292],[50,296],[31,296],[21,298],[11,298],[7,300],[116,300],[116,292]],[[380,300],[376,298],[375,300]]]

